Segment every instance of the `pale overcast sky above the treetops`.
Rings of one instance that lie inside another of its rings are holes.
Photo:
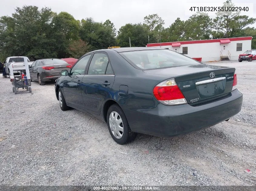
[[[158,14],[164,21],[164,27],[169,27],[178,17],[187,20],[189,15],[185,13],[185,6],[191,3],[198,6],[199,3],[216,3],[222,5],[224,0],[0,0],[0,16],[11,16],[16,7],[23,5],[35,5],[39,8],[49,7],[57,13],[66,11],[75,19],[92,17],[95,21],[109,19],[119,28],[127,23],[143,23],[143,18],[149,14]],[[251,17],[256,18],[255,0],[233,0],[234,3],[253,3]],[[252,4],[251,4],[252,5]],[[214,18],[214,16],[210,16]],[[256,27],[256,23],[251,25]]]

